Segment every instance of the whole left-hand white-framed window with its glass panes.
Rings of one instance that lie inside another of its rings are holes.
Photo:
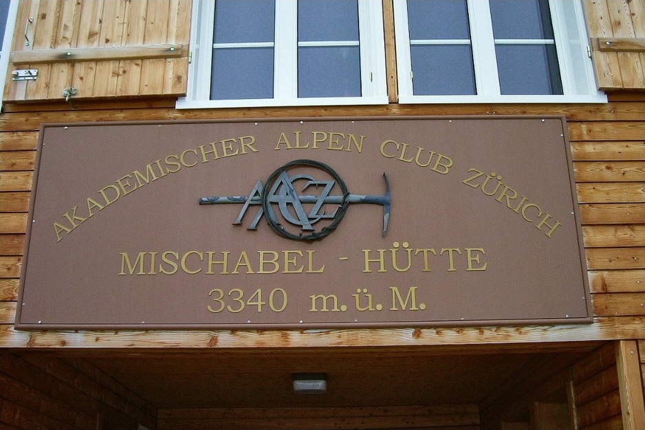
[[[386,104],[380,1],[195,1],[177,107]]]

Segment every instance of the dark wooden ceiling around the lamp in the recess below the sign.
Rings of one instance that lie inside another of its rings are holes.
[[[593,348],[544,345],[125,350],[85,359],[160,409],[482,404]],[[302,372],[327,374],[327,393],[294,394],[292,376]]]

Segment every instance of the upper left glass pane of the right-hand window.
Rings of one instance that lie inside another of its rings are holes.
[[[408,27],[412,40],[470,39],[466,0],[408,0]]]

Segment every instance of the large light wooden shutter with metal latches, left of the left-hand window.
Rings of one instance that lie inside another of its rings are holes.
[[[21,0],[7,101],[183,95],[191,0]],[[12,72],[37,69],[36,80]]]

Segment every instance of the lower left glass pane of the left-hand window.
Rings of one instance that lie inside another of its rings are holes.
[[[213,49],[211,100],[273,97],[273,48]]]

